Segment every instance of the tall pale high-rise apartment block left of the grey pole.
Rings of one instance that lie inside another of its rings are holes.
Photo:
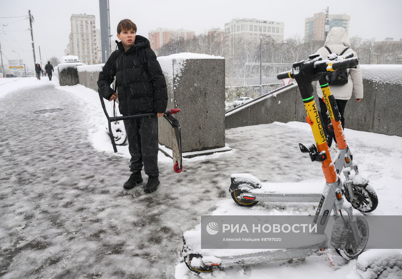
[[[78,56],[86,65],[102,63],[100,30],[96,29],[95,16],[91,14],[72,14],[71,33],[65,55]]]

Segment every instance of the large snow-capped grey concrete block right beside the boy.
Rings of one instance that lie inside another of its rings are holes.
[[[180,108],[183,152],[225,146],[225,60],[183,53],[158,57],[168,87],[168,109]],[[171,148],[174,131],[159,119],[159,142]]]

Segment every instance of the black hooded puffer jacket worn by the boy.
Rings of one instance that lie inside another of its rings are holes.
[[[98,88],[102,96],[109,100],[115,92],[110,85],[116,76],[122,115],[165,112],[168,103],[166,80],[149,40],[136,35],[134,45],[126,52],[121,42],[117,42],[117,46],[99,73]],[[139,57],[143,54],[146,56],[144,64]]]

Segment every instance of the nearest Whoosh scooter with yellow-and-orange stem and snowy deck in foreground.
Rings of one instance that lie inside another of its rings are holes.
[[[312,81],[321,79],[327,71],[336,71],[337,69],[347,69],[357,67],[359,64],[358,58],[348,58],[341,61],[331,61],[322,59],[320,55],[311,55],[308,60],[293,64],[292,71],[278,75],[278,79],[285,77],[294,78],[297,81],[301,97],[303,99],[308,122],[311,125],[316,145],[314,148],[306,148],[312,156],[313,161],[322,163],[322,170],[326,179],[326,184],[322,190],[321,198],[317,207],[316,215],[313,223],[317,225],[318,231],[314,235],[316,237],[316,249],[307,249],[303,244],[294,249],[265,249],[265,250],[236,250],[236,253],[225,253],[223,249],[201,249],[201,228],[197,227],[194,230],[183,232],[183,247],[180,251],[180,256],[183,257],[187,267],[191,271],[201,273],[210,272],[213,268],[229,267],[233,265],[250,265],[261,262],[271,262],[280,260],[289,260],[301,257],[307,257],[318,251],[320,248],[326,248],[326,235],[324,230],[328,223],[328,217],[333,210],[334,215],[338,215],[336,223],[338,225],[345,224],[347,227],[347,240],[343,243],[341,251],[338,253],[347,259],[353,259],[360,255],[368,241],[368,225],[363,218],[353,216],[353,208],[343,204],[345,188],[338,177],[335,165],[332,162],[328,144],[326,142],[325,133],[320,119],[320,112],[313,97]],[[302,150],[304,151],[304,150]],[[247,199],[244,193],[248,193],[248,197],[255,198],[253,189],[261,188],[262,185],[257,178],[251,175],[232,176],[232,182],[238,184],[238,188],[243,189],[242,200],[252,201]],[[264,197],[266,194],[261,194]],[[346,196],[346,194],[345,194]],[[297,196],[300,198],[300,196]],[[306,197],[311,199],[312,196]],[[341,210],[347,212],[346,218],[342,216]],[[331,243],[332,243],[331,236]],[[226,254],[226,255],[225,255]],[[236,254],[236,255],[235,255]]]

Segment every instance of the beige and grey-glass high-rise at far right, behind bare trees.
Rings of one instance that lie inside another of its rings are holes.
[[[328,25],[332,27],[343,27],[349,33],[349,21],[351,17],[347,14],[328,14]],[[304,20],[304,38],[312,40],[324,40],[325,33],[325,12],[314,14],[313,17]]]

